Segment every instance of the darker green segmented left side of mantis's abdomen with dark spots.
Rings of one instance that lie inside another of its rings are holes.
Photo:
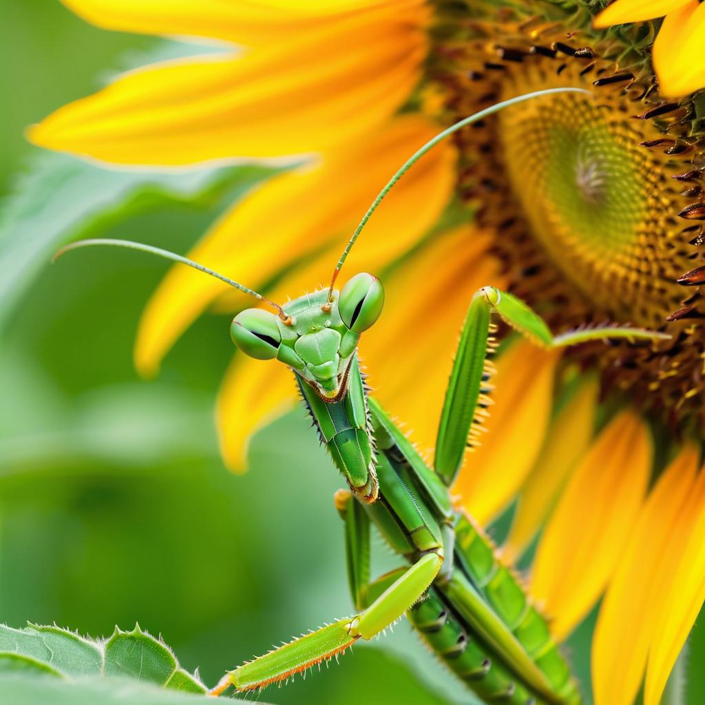
[[[532,694],[501,660],[494,658],[485,644],[468,635],[460,620],[431,589],[426,599],[408,612],[430,648],[484,701],[502,701],[508,705],[544,705],[546,701]]]

